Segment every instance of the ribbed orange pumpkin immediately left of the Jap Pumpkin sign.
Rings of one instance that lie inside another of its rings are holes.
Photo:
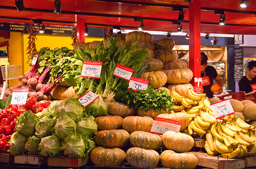
[[[148,116],[128,116],[124,118],[122,126],[123,129],[129,133],[132,133],[133,131],[150,132],[153,121],[154,120]]]

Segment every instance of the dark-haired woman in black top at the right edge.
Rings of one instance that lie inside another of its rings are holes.
[[[247,73],[238,82],[239,91],[245,95],[256,92],[256,61],[250,61],[247,64]]]

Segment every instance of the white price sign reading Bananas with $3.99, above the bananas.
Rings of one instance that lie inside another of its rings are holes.
[[[216,119],[223,118],[225,116],[234,114],[234,110],[231,106],[231,103],[228,99],[210,104],[212,112]]]

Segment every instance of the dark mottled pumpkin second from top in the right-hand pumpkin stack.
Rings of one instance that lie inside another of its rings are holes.
[[[154,58],[159,59],[165,64],[165,63],[175,61],[177,58],[177,55],[176,55],[176,52],[174,52],[173,50],[155,50]]]

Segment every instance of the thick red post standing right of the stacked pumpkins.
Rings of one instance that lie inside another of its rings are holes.
[[[190,83],[194,84],[194,77],[201,77],[201,57],[200,57],[200,16],[201,0],[189,2],[189,69],[193,71],[193,78]]]

